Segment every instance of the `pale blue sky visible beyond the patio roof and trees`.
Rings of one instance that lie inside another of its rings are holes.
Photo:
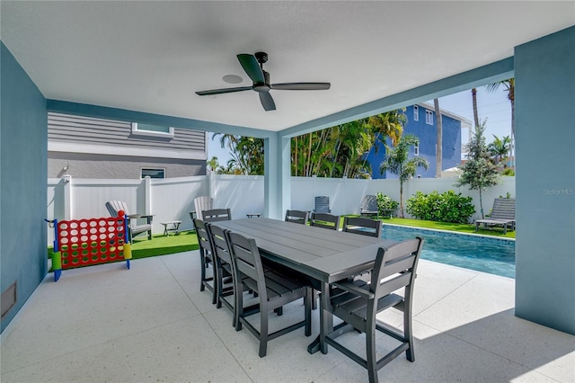
[[[433,100],[428,103],[433,105]],[[473,124],[471,90],[440,98],[439,108],[464,117]],[[483,86],[477,88],[477,110],[480,120],[487,119],[485,129],[487,143],[493,141],[493,135],[500,138],[511,136],[511,102],[507,99],[504,86],[501,85],[500,89],[493,93],[487,92]],[[462,131],[462,142],[467,142],[468,139],[467,132]],[[225,165],[231,158],[227,147],[221,148],[219,139],[212,139],[212,133],[208,133],[208,159],[212,156],[217,156],[220,165]]]

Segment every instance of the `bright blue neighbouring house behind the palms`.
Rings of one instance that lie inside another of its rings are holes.
[[[439,105],[441,107],[441,105]],[[403,127],[403,134],[414,134],[420,138],[420,157],[428,160],[429,167],[428,170],[420,167],[418,168],[417,174],[421,174],[422,178],[432,178],[436,174],[436,164],[435,164],[435,148],[438,138],[438,127],[435,120],[435,111],[433,111],[433,125],[429,125],[425,122],[425,111],[426,108],[419,106],[419,120],[414,119],[413,106],[408,106],[405,111],[407,116],[407,122]],[[432,110],[431,110],[432,111]],[[461,121],[455,120],[448,117],[442,113],[443,119],[443,137],[442,145],[443,147],[443,170],[449,169],[456,165],[461,164]],[[391,146],[391,141],[388,140],[388,145]],[[414,148],[411,147],[410,158],[415,156]],[[397,178],[397,175],[386,172],[385,174],[379,173],[379,165],[385,159],[385,147],[379,142],[377,144],[377,149],[372,148],[367,156],[367,161],[371,165],[371,174],[373,179],[379,178]]]

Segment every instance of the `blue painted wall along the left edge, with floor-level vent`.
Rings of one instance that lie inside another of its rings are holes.
[[[17,282],[2,331],[47,272],[46,99],[0,41],[0,283]]]

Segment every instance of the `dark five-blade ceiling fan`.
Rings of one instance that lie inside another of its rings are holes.
[[[270,74],[263,70],[263,63],[268,61],[268,54],[265,52],[256,52],[255,55],[241,53],[237,55],[243,70],[252,79],[252,86],[238,86],[234,88],[212,89],[208,91],[199,91],[196,94],[229,94],[233,92],[242,92],[253,90],[260,94],[261,106],[266,111],[275,111],[276,103],[271,98],[270,90],[281,91],[321,91],[330,89],[330,83],[283,83],[270,84]]]

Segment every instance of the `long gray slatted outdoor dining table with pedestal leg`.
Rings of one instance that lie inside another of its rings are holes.
[[[333,329],[330,283],[373,268],[377,249],[397,243],[270,218],[235,219],[215,225],[254,238],[261,256],[305,274],[314,289],[322,292],[320,335],[307,347],[310,353],[327,353],[323,339]]]

